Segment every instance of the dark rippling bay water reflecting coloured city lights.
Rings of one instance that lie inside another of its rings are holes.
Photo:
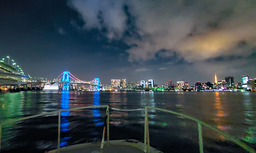
[[[0,94],[0,121],[74,107],[145,106],[200,119],[256,149],[256,92],[28,91]],[[144,140],[145,111],[110,110],[110,139]],[[61,146],[100,141],[106,109],[61,113]],[[197,122],[149,110],[150,144],[166,153],[199,153]],[[58,114],[3,125],[1,153],[44,153],[57,148]],[[247,153],[203,127],[204,153]]]

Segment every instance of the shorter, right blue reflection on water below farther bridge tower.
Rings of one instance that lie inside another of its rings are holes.
[[[94,91],[94,96],[93,96],[93,105],[94,106],[99,106],[100,105],[100,102],[99,102],[99,91],[98,90],[95,90]],[[96,107],[94,110],[93,110],[93,116],[94,116],[94,122],[97,126],[100,126],[100,125],[103,125],[104,123],[103,122],[99,122],[100,119],[100,113],[99,113],[99,110],[98,110],[99,107]]]

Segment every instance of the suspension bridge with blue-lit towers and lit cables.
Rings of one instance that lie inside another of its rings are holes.
[[[93,85],[95,86],[95,90],[99,90],[99,86],[102,86],[98,78],[95,78],[92,81],[82,81],[69,71],[63,71],[53,82],[62,84],[62,90],[69,90],[70,84]]]

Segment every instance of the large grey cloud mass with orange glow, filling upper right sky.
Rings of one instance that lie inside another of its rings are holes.
[[[102,28],[91,19],[100,10],[107,21],[108,38],[136,44],[126,50],[131,62],[154,59],[162,48],[175,50],[190,62],[213,58],[232,51],[239,39],[251,42],[255,35],[253,1],[73,0],[72,4],[91,22],[86,29]],[[117,21],[111,22],[114,18]]]

